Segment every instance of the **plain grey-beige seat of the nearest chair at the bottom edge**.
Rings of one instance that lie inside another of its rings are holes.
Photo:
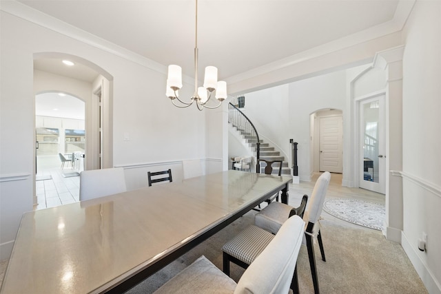
[[[236,282],[201,256],[154,293],[234,293]]]

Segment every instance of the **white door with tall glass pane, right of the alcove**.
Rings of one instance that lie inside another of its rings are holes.
[[[385,193],[384,94],[360,101],[360,188]]]

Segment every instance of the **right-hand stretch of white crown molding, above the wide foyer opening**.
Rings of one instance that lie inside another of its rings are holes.
[[[398,7],[393,16],[393,19],[391,21],[388,21],[387,23],[381,23],[380,25],[376,25],[372,28],[356,32],[354,34],[350,34],[349,36],[345,36],[344,38],[340,38],[338,40],[317,46],[316,48],[311,48],[310,50],[305,50],[298,54],[291,55],[286,59],[280,59],[273,63],[268,63],[267,65],[256,67],[253,70],[243,72],[242,74],[230,76],[229,78],[225,78],[225,81],[229,84],[238,83],[249,78],[254,78],[262,74],[267,74],[268,72],[274,72],[284,67],[295,65],[296,63],[317,58],[318,56],[330,54],[338,50],[358,45],[360,43],[365,43],[367,41],[377,39],[387,34],[399,32],[400,30],[402,30],[404,24],[409,18],[409,14],[411,13],[415,2],[416,0],[401,0],[400,2],[398,2]]]

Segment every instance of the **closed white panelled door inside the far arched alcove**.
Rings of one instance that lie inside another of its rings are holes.
[[[343,171],[342,121],[342,116],[320,118],[320,171]]]

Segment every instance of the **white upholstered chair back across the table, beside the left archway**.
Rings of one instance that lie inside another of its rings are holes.
[[[127,191],[122,167],[81,171],[80,201]]]

